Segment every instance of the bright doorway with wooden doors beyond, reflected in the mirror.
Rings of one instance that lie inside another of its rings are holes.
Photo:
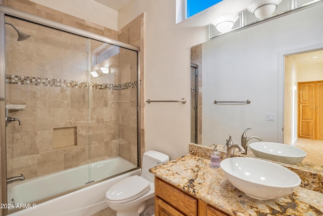
[[[305,150],[304,161],[316,164],[323,154],[322,71],[322,49],[285,56],[284,143]]]

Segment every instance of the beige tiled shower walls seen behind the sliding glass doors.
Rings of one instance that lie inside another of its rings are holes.
[[[31,35],[19,44],[6,27],[6,104],[26,105],[9,110],[21,125],[7,127],[7,176],[27,180],[116,156],[137,164],[137,53],[6,20]],[[88,64],[111,71],[93,77]]]

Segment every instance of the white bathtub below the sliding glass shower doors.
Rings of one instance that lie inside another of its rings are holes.
[[[90,169],[89,166],[91,167]],[[127,172],[121,176],[102,181],[40,204],[33,205],[33,201],[64,192],[71,188],[83,186],[85,183],[89,182],[88,175],[91,176],[91,180],[97,181],[136,167],[137,166],[135,164],[125,160],[122,157],[114,157],[107,160],[66,169],[54,174],[9,184],[8,203],[11,203],[12,198],[15,200],[15,206],[17,206],[17,204],[19,206],[22,203],[31,203],[30,208],[14,212],[10,215],[92,215],[108,207],[105,202],[105,192],[107,189],[124,178],[140,175],[141,169]]]

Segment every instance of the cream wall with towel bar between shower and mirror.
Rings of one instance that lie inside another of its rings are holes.
[[[190,46],[207,40],[206,27],[176,22],[176,2],[134,0],[119,11],[120,27],[145,13],[145,100],[182,103],[145,103],[146,150],[164,152],[171,159],[188,153],[190,142]]]

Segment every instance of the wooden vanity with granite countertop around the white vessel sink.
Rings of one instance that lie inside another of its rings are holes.
[[[323,194],[299,187],[289,196],[257,200],[236,189],[210,160],[185,155],[150,169],[155,215],[323,215]]]

